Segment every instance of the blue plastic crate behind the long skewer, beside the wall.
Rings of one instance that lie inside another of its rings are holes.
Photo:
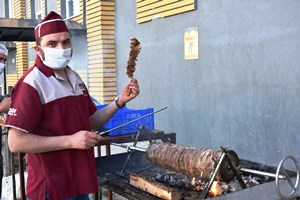
[[[102,109],[105,106],[107,106],[107,105],[99,105],[99,106],[97,106],[97,109]],[[102,128],[99,129],[99,131],[100,132],[107,131],[109,129],[115,128],[126,122],[130,122],[134,119],[145,116],[152,112],[153,112],[153,108],[136,110],[136,109],[129,109],[129,108],[125,107],[123,109],[119,109],[112,116],[112,118],[106,124],[104,124],[104,126]],[[116,136],[116,135],[126,135],[126,134],[137,133],[137,131],[138,131],[137,128],[139,128],[142,124],[147,129],[153,130],[154,129],[154,115],[150,115],[143,119],[132,122],[126,126],[120,127],[116,130],[113,130],[113,131],[109,132],[108,135]]]

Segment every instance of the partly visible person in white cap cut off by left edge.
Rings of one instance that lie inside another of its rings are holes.
[[[3,74],[4,69],[5,69],[5,62],[8,56],[8,50],[3,44],[0,44],[0,75]],[[0,95],[0,113],[5,113],[8,111],[10,107],[10,98],[8,96],[2,96]],[[3,119],[4,117],[1,115],[0,116],[0,125],[3,124]],[[0,133],[1,133],[1,138],[0,138],[0,199],[2,195],[2,179],[3,179],[3,156],[1,153],[2,150],[2,127],[0,126]]]

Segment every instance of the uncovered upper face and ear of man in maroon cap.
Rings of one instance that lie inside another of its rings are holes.
[[[72,47],[70,33],[61,32],[45,35],[41,37],[40,45],[35,46],[35,52],[45,59],[44,51],[42,48],[55,48],[55,49],[68,49]]]

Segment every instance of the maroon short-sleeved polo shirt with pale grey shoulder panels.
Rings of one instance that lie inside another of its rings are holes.
[[[6,127],[40,136],[72,135],[91,130],[89,117],[97,110],[79,75],[66,68],[69,82],[40,58],[15,85]],[[61,200],[98,190],[94,150],[66,149],[27,153],[27,197]]]

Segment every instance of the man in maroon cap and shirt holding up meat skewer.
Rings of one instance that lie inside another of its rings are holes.
[[[135,98],[139,87],[132,80],[115,102],[97,110],[79,75],[67,66],[72,40],[61,17],[50,12],[35,37],[35,65],[11,94],[5,122],[9,148],[27,153],[28,199],[85,200],[98,191],[93,147],[102,137],[92,130]]]

